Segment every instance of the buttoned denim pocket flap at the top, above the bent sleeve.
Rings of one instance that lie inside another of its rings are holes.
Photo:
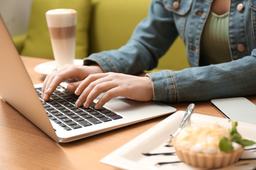
[[[163,0],[165,9],[174,12],[175,14],[185,15],[191,8],[193,0]],[[178,8],[174,8],[174,3],[179,3]]]

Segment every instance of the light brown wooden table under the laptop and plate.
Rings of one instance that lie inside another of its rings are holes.
[[[22,60],[33,84],[43,82],[45,76],[36,73],[33,68],[39,63],[50,60],[30,57],[22,57]],[[256,97],[248,97],[248,99],[256,103]],[[185,110],[188,104],[170,105],[177,110]],[[221,116],[209,101],[195,104],[194,112]],[[0,169],[117,169],[100,163],[100,160],[167,116],[72,143],[58,144],[10,105],[0,100]]]

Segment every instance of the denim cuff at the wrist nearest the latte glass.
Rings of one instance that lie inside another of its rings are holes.
[[[83,65],[92,65],[92,64],[98,64],[101,69],[106,72],[116,72],[116,67],[114,66],[114,63],[108,59],[107,56],[104,56],[102,54],[91,54],[88,58],[83,59]]]

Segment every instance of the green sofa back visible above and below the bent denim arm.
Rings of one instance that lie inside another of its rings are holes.
[[[125,45],[133,30],[148,15],[152,0],[91,0],[92,15],[89,54],[112,50]],[[179,37],[159,60],[153,72],[162,69],[173,71],[190,67],[186,48]]]

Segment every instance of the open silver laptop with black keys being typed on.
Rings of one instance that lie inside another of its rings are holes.
[[[0,37],[1,98],[57,143],[68,143],[176,111],[163,103],[125,97],[114,98],[99,110],[93,105],[89,109],[76,108],[77,96],[67,92],[65,82],[58,86],[49,102],[44,102],[39,99],[42,84],[32,84],[1,15]]]

